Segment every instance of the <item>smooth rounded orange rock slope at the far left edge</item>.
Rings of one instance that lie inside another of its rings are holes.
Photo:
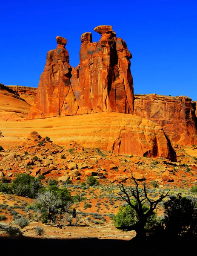
[[[26,117],[30,105],[19,94],[0,84],[0,121],[13,120]]]

